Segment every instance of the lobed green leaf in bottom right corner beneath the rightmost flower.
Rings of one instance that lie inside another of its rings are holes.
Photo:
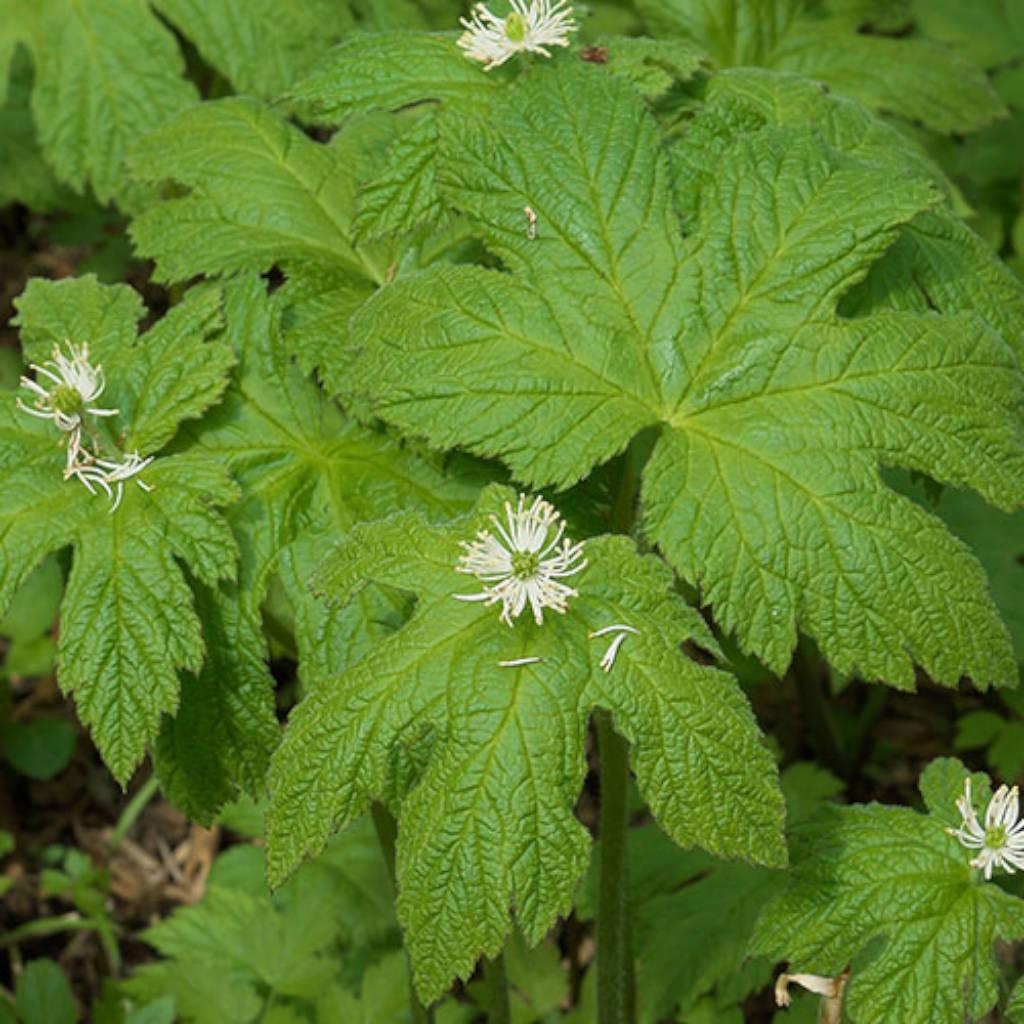
[[[758,923],[755,949],[792,971],[849,966],[854,1024],[983,1017],[998,991],[992,946],[1024,937],[1024,901],[983,882],[971,851],[945,834],[958,823],[953,801],[967,775],[959,762],[934,762],[922,780],[928,814],[829,807],[796,826],[790,878]]]

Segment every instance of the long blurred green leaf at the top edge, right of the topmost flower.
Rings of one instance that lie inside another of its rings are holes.
[[[865,33],[857,5],[818,0],[638,0],[656,36],[701,46],[719,68],[799,72],[935,131],[975,131],[1005,113],[980,68],[920,38]],[[833,4],[831,6],[836,6]]]

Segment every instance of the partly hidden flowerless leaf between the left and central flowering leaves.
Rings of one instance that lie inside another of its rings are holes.
[[[475,484],[346,419],[283,350],[278,309],[259,279],[229,287],[226,313],[239,370],[195,431],[196,444],[225,461],[242,485],[230,518],[242,545],[243,604],[258,609],[270,574],[283,569],[300,650],[316,659],[312,675],[319,675],[330,656],[351,656],[341,638],[376,635],[373,624],[388,618],[395,601],[367,595],[358,608],[329,612],[306,587],[317,558],[366,519],[402,508],[451,515],[472,501]]]

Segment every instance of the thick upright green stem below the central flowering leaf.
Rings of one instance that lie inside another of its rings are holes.
[[[598,1024],[633,1024],[636,982],[630,942],[626,836],[629,744],[611,716],[594,713],[601,757],[600,876],[597,896]]]

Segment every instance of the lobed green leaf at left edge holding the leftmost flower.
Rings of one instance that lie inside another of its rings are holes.
[[[125,286],[94,279],[34,281],[18,301],[22,341],[42,360],[55,344],[88,343],[109,381],[102,422],[125,452],[160,451],[182,420],[219,397],[230,349],[207,336],[220,325],[220,295],[199,290],[143,339],[143,309]],[[9,394],[0,406],[0,605],[50,551],[74,546],[61,607],[58,681],[114,774],[124,781],[178,703],[178,669],[199,671],[203,638],[182,568],[207,586],[234,573],[236,546],[217,506],[237,489],[214,462],[160,456],[126,484],[112,512],[101,493],[63,479],[65,441]]]

